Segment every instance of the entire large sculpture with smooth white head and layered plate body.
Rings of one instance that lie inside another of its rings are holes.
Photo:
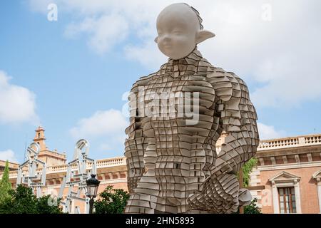
[[[255,155],[257,115],[248,88],[212,66],[197,44],[215,36],[187,4],[157,19],[158,48],[169,57],[129,95],[126,213],[231,213],[248,204],[237,173]],[[220,153],[215,143],[228,133]]]

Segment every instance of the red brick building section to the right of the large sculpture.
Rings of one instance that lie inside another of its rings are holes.
[[[250,185],[263,213],[321,213],[321,135],[260,142]]]

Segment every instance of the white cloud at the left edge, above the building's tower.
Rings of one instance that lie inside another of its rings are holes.
[[[11,84],[11,77],[0,71],[0,123],[36,124],[36,96],[27,88]]]

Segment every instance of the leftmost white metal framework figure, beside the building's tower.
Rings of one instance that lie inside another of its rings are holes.
[[[46,186],[46,162],[38,159],[40,146],[33,142],[26,150],[26,162],[19,165],[18,177],[16,185],[28,185],[32,190],[36,191],[36,197],[41,197],[41,187]],[[36,169],[42,166],[42,171]],[[28,167],[28,172],[24,172],[24,167]]]

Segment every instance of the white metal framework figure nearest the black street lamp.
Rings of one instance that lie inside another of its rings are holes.
[[[79,207],[75,207],[76,201],[81,201],[85,204],[85,214],[89,213],[89,198],[86,196],[87,185],[86,180],[91,177],[91,174],[96,174],[96,160],[88,157],[89,142],[87,140],[79,140],[76,143],[73,161],[68,162],[67,174],[63,177],[61,189],[58,198],[63,197],[63,190],[68,187],[66,200],[61,202],[63,212],[72,214],[80,214]],[[92,164],[91,170],[87,170],[87,165]],[[77,188],[74,192],[74,188]],[[81,197],[81,193],[85,198]]]

